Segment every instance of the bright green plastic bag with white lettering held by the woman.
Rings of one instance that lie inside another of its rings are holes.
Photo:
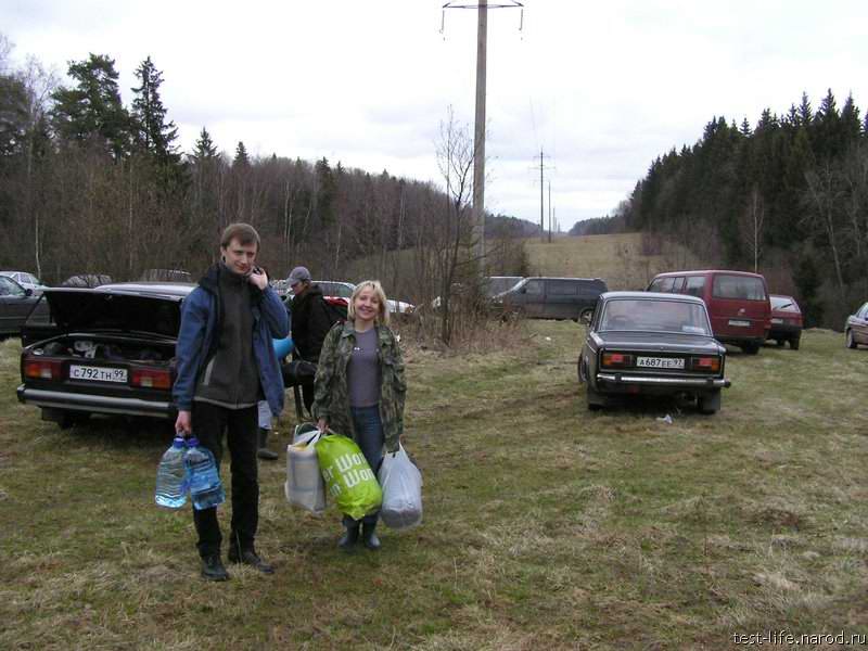
[[[342,513],[360,520],[380,508],[383,492],[355,441],[328,434],[317,443],[317,459],[326,488]]]

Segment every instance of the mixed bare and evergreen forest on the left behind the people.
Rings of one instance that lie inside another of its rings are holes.
[[[252,156],[243,142],[226,154],[204,126],[193,150],[181,152],[159,94],[163,73],[150,58],[125,105],[107,55],[71,62],[63,85],[33,58],[12,66],[10,51],[0,36],[2,268],[49,283],[81,272],[138,279],[149,268],[196,276],[233,221],[257,228],[273,278],[305,265],[316,278],[381,278],[391,293],[421,302],[472,268],[469,136],[451,118],[436,152],[444,192],[326,157]],[[524,228],[488,216],[489,272],[523,272]]]

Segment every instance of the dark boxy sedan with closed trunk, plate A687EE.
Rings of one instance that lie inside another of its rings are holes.
[[[589,409],[611,397],[677,395],[703,413],[720,408],[726,348],[712,333],[702,298],[653,292],[600,296],[578,356]]]

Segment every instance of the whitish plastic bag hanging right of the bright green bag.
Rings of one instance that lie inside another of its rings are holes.
[[[401,529],[422,522],[422,473],[404,446],[383,457],[376,478],[383,489],[380,518],[386,526]]]

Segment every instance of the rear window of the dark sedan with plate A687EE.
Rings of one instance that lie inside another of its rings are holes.
[[[599,330],[711,335],[705,307],[681,301],[614,298],[605,302]]]

